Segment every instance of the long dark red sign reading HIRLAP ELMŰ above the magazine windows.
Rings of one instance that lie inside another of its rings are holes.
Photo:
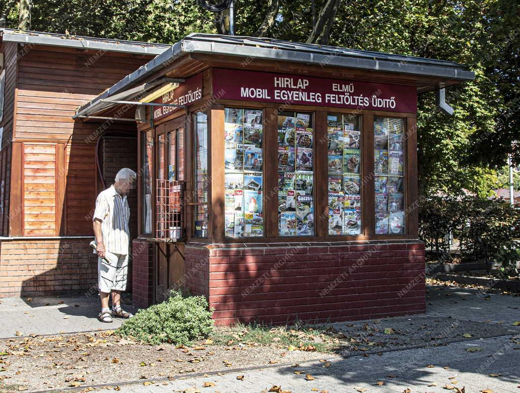
[[[417,112],[413,86],[213,69],[213,96],[240,101]]]

